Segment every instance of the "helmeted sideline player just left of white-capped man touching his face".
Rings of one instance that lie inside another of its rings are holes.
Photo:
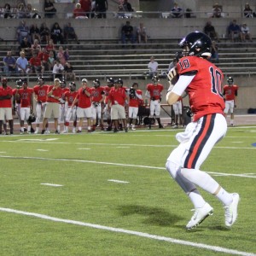
[[[76,126],[77,126],[77,107],[74,106],[72,108],[72,104],[78,95],[78,92],[76,91],[76,84],[75,82],[72,82],[68,84],[69,90],[64,93],[65,96],[65,123],[64,123],[64,131],[62,133],[68,132],[68,126],[69,122],[72,119],[73,120],[73,130],[72,132],[76,132]]]

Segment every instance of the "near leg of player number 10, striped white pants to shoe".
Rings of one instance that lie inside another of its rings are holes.
[[[236,221],[239,195],[228,193],[209,174],[200,170],[201,164],[207,159],[213,146],[224,137],[226,130],[227,125],[223,115],[217,113],[202,117],[189,140],[190,146],[183,155],[181,173],[189,182],[215,195],[224,204],[225,224],[231,225]],[[195,208],[195,211],[200,216],[201,209]],[[196,225],[193,218],[191,221],[192,225]]]

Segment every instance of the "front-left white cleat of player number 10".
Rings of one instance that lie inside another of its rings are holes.
[[[195,213],[186,225],[187,230],[194,229],[196,226],[201,224],[208,216],[213,214],[213,208],[208,204],[201,208],[195,208]]]

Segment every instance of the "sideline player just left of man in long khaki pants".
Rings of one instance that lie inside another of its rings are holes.
[[[35,134],[39,131],[39,124],[42,115],[44,114],[46,104],[47,104],[47,90],[49,85],[44,84],[44,78],[38,78],[38,84],[34,86],[34,99],[36,101],[36,130]],[[48,125],[46,125],[47,127]]]

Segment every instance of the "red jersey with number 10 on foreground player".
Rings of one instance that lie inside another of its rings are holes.
[[[187,87],[189,104],[194,121],[210,113],[224,114],[224,99],[221,93],[223,73],[212,62],[196,56],[185,56],[177,64],[179,75],[196,71],[195,78]]]

